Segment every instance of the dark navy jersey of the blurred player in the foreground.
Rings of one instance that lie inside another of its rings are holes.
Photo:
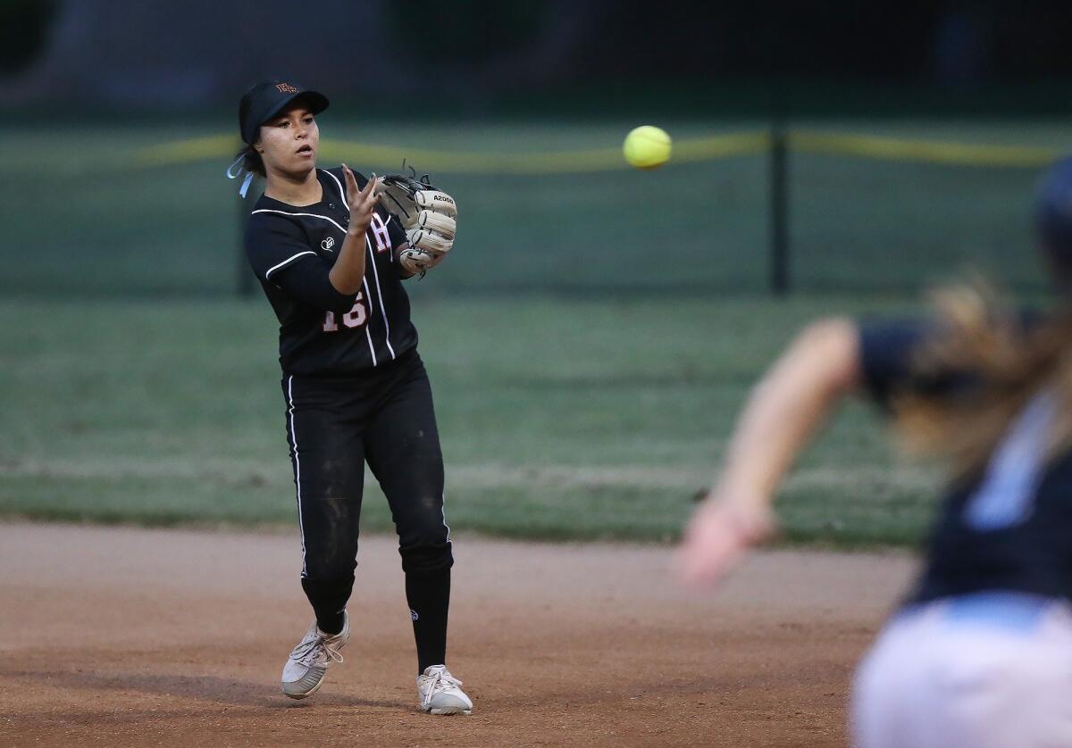
[[[864,380],[880,402],[898,390],[935,386],[913,380],[910,365],[927,334],[928,328],[912,324],[862,328]],[[969,372],[957,372],[944,384],[970,382]],[[982,475],[948,490],[909,602],[984,590],[1072,599],[1072,450],[1044,462],[1055,407],[1051,393],[1036,394]]]

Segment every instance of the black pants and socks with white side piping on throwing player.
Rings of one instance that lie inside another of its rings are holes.
[[[354,586],[364,463],[399,536],[418,665],[444,662],[450,528],[432,390],[416,350],[359,377],[285,376],[301,530],[301,586],[321,630],[342,627]]]

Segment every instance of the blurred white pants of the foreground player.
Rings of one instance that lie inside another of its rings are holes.
[[[1008,593],[893,618],[857,671],[859,748],[1072,748],[1072,607]]]

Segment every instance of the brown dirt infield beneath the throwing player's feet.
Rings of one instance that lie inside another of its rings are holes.
[[[717,593],[666,549],[456,540],[449,664],[415,707],[394,543],[363,542],[354,635],[279,692],[309,625],[296,537],[0,524],[3,745],[844,745],[853,662],[905,555],[768,552]]]

